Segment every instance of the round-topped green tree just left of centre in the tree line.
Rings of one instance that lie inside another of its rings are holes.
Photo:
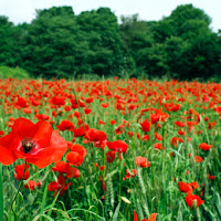
[[[117,74],[124,64],[123,42],[116,15],[108,8],[82,12],[77,72]]]

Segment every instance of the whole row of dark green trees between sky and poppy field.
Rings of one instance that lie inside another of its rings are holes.
[[[221,30],[192,4],[159,21],[116,15],[108,8],[76,15],[71,7],[36,10],[31,23],[0,17],[0,65],[33,77],[169,76],[221,78]]]

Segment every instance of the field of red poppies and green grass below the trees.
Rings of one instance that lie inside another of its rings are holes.
[[[221,220],[221,84],[0,80],[0,220]]]

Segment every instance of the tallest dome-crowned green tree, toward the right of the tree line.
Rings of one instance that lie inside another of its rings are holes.
[[[151,57],[166,53],[160,64],[172,76],[207,80],[217,72],[220,56],[220,46],[210,22],[209,15],[192,4],[179,6],[168,18],[151,25],[157,42],[152,48],[157,50],[161,44],[160,52]],[[156,50],[152,49],[152,52]]]

